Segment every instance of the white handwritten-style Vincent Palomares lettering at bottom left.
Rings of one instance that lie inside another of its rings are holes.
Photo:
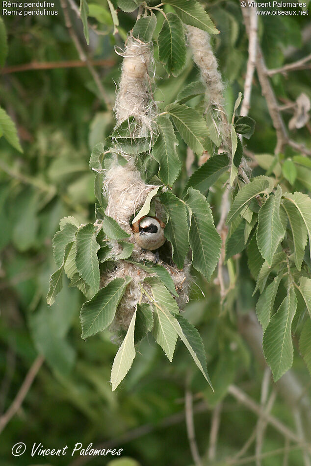
[[[43,444],[34,443],[32,445],[31,456],[65,456],[67,453],[71,453],[74,456],[75,453],[80,456],[120,456],[123,448],[116,450],[115,448],[93,448],[93,443],[90,443],[86,448],[83,447],[82,443],[77,442],[72,450],[68,449],[68,445],[56,449],[56,448],[44,448]]]

